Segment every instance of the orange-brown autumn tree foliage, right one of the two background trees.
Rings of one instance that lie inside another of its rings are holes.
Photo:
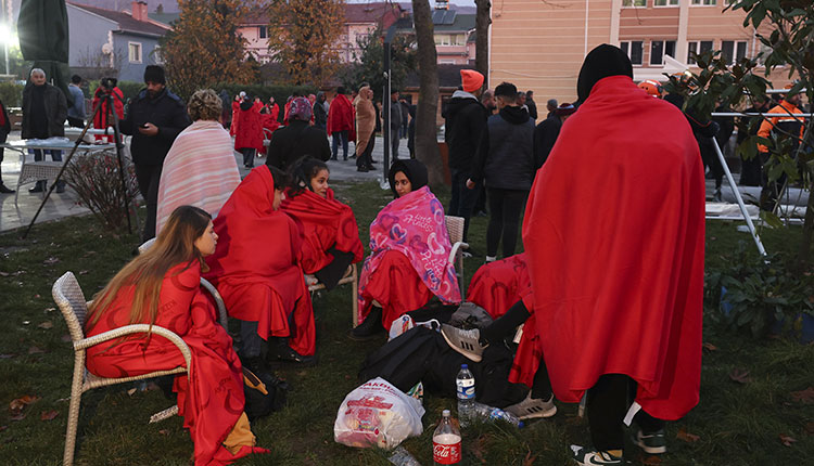
[[[342,0],[268,0],[268,49],[291,83],[321,86],[339,65]]]

